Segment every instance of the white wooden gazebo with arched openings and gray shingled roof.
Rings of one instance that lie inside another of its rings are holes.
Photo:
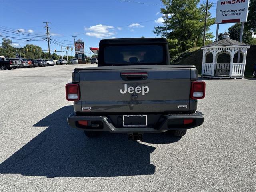
[[[243,78],[247,49],[250,45],[230,39],[229,33],[222,34],[222,39],[201,47],[203,50],[202,77],[207,78]],[[240,61],[234,60],[235,54],[240,52]],[[211,56],[212,62],[206,63],[206,57]],[[218,63],[220,54],[228,54],[230,63]]]

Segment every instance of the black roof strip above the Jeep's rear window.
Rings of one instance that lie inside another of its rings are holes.
[[[167,44],[166,38],[121,38],[121,39],[103,39],[102,45],[122,45],[122,44]]]

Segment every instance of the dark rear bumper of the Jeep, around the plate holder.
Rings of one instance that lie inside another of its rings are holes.
[[[193,119],[191,124],[183,124],[184,119]],[[88,126],[81,126],[78,121],[88,121]],[[163,115],[159,121],[158,128],[136,127],[136,128],[116,128],[106,116],[77,116],[72,113],[68,116],[68,124],[76,129],[88,131],[107,131],[116,133],[130,132],[165,132],[168,130],[185,130],[200,126],[204,122],[204,114],[197,111],[192,114],[170,114]],[[99,126],[94,126],[98,124]]]

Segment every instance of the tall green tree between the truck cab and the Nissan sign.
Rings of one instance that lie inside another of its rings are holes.
[[[171,57],[176,52],[184,52],[194,46],[202,46],[204,32],[204,17],[206,4],[199,4],[200,0],[162,0],[165,8],[161,8],[161,13],[171,14],[171,17],[165,20],[165,26],[156,26],[154,34],[165,37],[167,25],[167,38]],[[210,9],[212,3],[208,4]],[[208,33],[210,26],[214,24],[214,18],[211,13],[207,16],[206,39],[213,38],[212,33]],[[172,51],[173,50],[173,51]]]

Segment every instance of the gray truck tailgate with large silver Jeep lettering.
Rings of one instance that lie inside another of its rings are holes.
[[[86,113],[188,112],[190,67],[76,69],[80,111]],[[133,69],[134,68],[134,69]],[[140,77],[141,76],[141,77]],[[73,76],[74,81],[74,76]]]

